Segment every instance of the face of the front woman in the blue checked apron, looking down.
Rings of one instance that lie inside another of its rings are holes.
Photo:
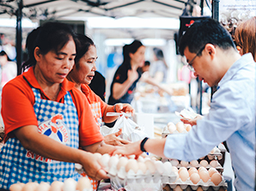
[[[40,54],[40,49],[36,47],[34,57],[37,61],[34,68],[35,75],[40,78],[40,81],[50,84],[61,83],[75,63],[76,45],[74,40],[70,39],[61,50],[49,51],[46,55]]]

